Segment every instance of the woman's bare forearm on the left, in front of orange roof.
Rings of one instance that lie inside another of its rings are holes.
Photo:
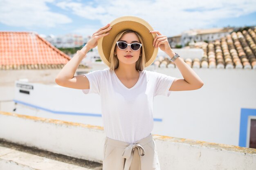
[[[85,45],[81,49],[81,52],[86,54],[89,50],[90,49]],[[76,73],[80,62],[83,60],[84,55],[82,53],[74,55],[74,57],[69,62],[67,62],[67,64],[65,64],[65,66],[61,69],[56,79],[72,79],[74,77],[74,74]]]

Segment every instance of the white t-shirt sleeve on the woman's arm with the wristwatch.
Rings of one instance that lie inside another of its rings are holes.
[[[155,91],[154,96],[163,95],[169,97],[171,91],[169,91],[173,81],[176,77],[171,77],[162,73],[155,72]]]

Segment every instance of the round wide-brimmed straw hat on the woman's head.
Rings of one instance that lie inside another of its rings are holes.
[[[116,36],[121,31],[128,29],[141,35],[144,44],[142,48],[144,47],[146,57],[145,67],[150,66],[154,62],[157,57],[158,48],[153,46],[153,41],[157,35],[149,32],[153,31],[153,28],[148,22],[135,16],[123,16],[110,22],[110,26],[112,27],[110,31],[108,31],[110,34],[99,38],[97,45],[101,60],[105,64],[110,67],[110,50]]]

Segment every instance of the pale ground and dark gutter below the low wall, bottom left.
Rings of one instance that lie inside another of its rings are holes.
[[[1,170],[102,170],[102,164],[0,139]]]

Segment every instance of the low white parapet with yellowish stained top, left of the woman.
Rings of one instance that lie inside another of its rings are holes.
[[[102,163],[105,137],[100,126],[0,112],[0,138],[40,150]]]

